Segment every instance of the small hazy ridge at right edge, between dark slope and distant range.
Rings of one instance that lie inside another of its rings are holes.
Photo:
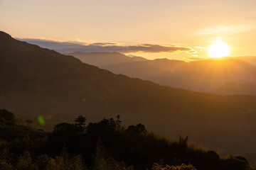
[[[248,94],[256,96],[256,81],[247,84],[227,83],[220,86],[215,93],[222,95]]]

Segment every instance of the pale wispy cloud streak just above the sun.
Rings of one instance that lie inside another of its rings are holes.
[[[194,35],[230,35],[242,33],[256,28],[256,23],[226,24],[223,26],[210,26],[198,30]]]

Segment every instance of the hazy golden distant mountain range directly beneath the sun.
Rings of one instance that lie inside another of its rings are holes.
[[[228,82],[245,84],[256,79],[256,67],[235,58],[194,62],[156,59],[115,63],[110,57],[112,53],[108,53],[106,57],[108,63],[105,64],[103,59],[95,61],[96,58],[105,57],[105,54],[100,52],[97,53],[97,56],[92,53],[79,53],[79,55],[73,53],[72,55],[78,57],[82,62],[110,70],[115,74],[124,74],[129,77],[154,81],[160,85],[191,91],[213,93]],[[119,57],[117,53],[114,53],[114,56]],[[122,55],[122,57],[124,56]]]

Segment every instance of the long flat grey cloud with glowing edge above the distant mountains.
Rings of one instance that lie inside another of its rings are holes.
[[[175,45],[154,45],[154,44],[136,44],[136,45],[119,45],[112,42],[82,43],[82,42],[58,42],[53,40],[41,40],[32,38],[16,38],[31,44],[46,47],[57,52],[191,52],[188,47],[178,47]]]

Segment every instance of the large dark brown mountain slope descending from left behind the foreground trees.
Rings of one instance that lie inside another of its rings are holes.
[[[112,74],[4,32],[0,32],[0,82],[0,107],[33,120],[38,128],[51,129],[78,115],[86,115],[88,121],[121,115],[124,125],[143,123],[149,131],[167,137],[189,135],[197,145],[256,162],[256,96],[218,96],[159,86]],[[41,125],[36,123],[39,115],[46,120]]]

